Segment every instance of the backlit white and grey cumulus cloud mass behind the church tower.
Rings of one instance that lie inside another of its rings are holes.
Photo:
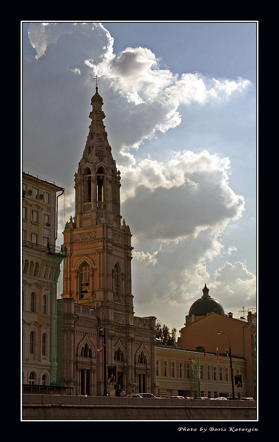
[[[115,55],[114,39],[100,23],[32,23],[29,39],[36,57],[23,62],[23,158],[27,170],[43,175],[44,168],[48,179],[66,188],[65,204],[59,201],[59,235],[74,216],[73,178],[88,135],[97,74],[121,171],[121,213],[134,235],[137,303],[181,306],[200,297],[197,287],[212,278],[206,266],[220,256],[225,227],[244,212],[243,196],[229,185],[229,158],[203,146],[199,153],[180,146],[164,162],[136,153],[158,132],[179,126],[182,107],[226,104],[244,94],[249,81],[179,76],[162,68],[148,48]],[[210,294],[224,293],[235,306],[243,296],[253,299],[255,276],[242,263],[226,263],[210,284]]]

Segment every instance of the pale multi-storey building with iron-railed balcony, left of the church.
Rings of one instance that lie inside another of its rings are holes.
[[[64,189],[23,173],[23,384],[56,383],[56,293],[65,251],[55,246],[58,197]],[[58,193],[60,192],[60,193]]]

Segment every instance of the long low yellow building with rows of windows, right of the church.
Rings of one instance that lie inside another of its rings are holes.
[[[233,357],[235,375],[241,380],[234,386],[235,397],[247,396],[246,361]],[[185,348],[156,346],[156,393],[162,398],[184,397],[228,397],[232,396],[230,361],[227,356],[217,353]]]

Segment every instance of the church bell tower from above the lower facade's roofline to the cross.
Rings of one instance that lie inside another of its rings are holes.
[[[120,172],[103,120],[103,99],[91,99],[89,134],[75,173],[75,215],[66,223],[62,298],[133,316],[131,231],[121,224]],[[131,319],[131,317],[130,317]]]

